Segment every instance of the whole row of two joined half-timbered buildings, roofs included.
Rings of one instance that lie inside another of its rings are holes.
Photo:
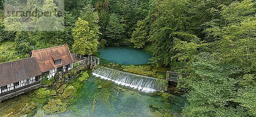
[[[0,101],[38,88],[41,78],[49,79],[58,71],[72,70],[73,63],[70,50],[64,44],[32,50],[30,58],[0,64]]]

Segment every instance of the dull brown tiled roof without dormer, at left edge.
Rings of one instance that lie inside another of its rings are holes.
[[[0,64],[0,86],[41,75],[35,57]]]

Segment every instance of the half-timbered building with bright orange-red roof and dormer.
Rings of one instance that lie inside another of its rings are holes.
[[[73,69],[73,57],[67,44],[41,50],[32,50],[31,57],[36,57],[44,76],[53,77],[56,72]]]

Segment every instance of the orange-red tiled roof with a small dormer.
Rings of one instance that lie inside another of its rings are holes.
[[[67,44],[41,50],[32,50],[31,56],[36,57],[42,72],[47,72],[74,62]],[[54,60],[58,60],[60,58],[61,64],[55,65]]]

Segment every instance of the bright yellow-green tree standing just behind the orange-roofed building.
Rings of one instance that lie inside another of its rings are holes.
[[[74,53],[80,55],[92,55],[96,53],[99,44],[97,41],[98,36],[95,31],[89,29],[87,21],[79,18],[72,32],[75,40],[72,45],[72,51]]]

